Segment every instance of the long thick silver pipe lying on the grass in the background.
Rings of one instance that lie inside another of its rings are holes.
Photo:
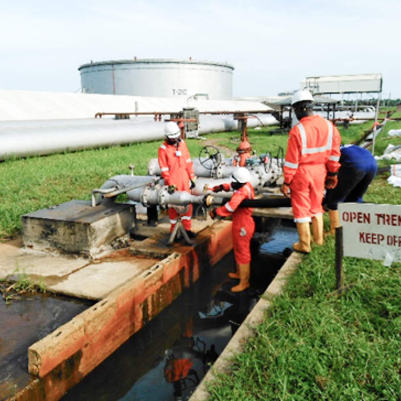
[[[259,118],[263,125],[277,124],[272,115],[260,115]],[[257,119],[249,119],[248,123],[250,127],[261,125]],[[2,122],[0,160],[12,156],[48,155],[66,150],[76,151],[161,140],[164,138],[165,125],[165,122],[138,122],[134,119]],[[199,127],[201,134],[237,129],[238,121],[232,117],[222,119],[201,116]]]

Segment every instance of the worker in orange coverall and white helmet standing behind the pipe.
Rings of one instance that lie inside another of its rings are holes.
[[[158,161],[164,185],[168,185],[169,194],[173,194],[174,191],[190,192],[195,187],[195,174],[190,152],[184,141],[180,139],[181,132],[176,123],[168,122],[164,132],[166,140],[158,150]],[[168,215],[171,223],[170,231],[173,231],[177,223],[177,210],[169,207]],[[192,205],[189,205],[186,213],[181,215],[181,221],[188,237],[194,238],[196,234],[191,231],[191,217]]]

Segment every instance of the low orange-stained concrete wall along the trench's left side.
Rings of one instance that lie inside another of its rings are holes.
[[[11,399],[60,399],[232,249],[231,222],[205,229],[195,247],[181,249],[33,344],[32,382]]]

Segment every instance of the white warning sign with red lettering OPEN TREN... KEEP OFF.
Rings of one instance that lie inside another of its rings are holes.
[[[340,203],[344,256],[401,262],[401,205]]]

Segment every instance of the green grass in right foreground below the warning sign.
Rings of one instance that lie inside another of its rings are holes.
[[[314,247],[273,301],[213,400],[399,400],[401,266],[345,258],[337,298],[334,240]]]

